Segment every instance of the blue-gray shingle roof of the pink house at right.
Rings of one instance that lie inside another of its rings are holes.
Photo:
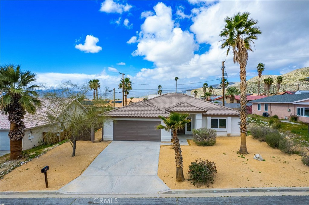
[[[258,100],[252,100],[254,102],[273,102],[273,103],[292,103],[298,100],[304,100],[309,98],[309,93],[305,94],[290,94],[290,95],[273,95],[267,98],[262,98]]]

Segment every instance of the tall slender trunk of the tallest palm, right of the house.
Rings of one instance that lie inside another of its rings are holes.
[[[248,154],[246,145],[247,136],[247,83],[246,83],[246,66],[240,64],[240,149],[239,153]]]

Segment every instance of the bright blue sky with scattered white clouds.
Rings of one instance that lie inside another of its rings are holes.
[[[119,72],[139,84],[175,84],[176,76],[179,84],[204,82],[219,78],[224,59],[229,81],[239,81],[239,66],[219,48],[218,37],[223,18],[236,11],[251,12],[263,31],[249,54],[248,79],[256,75],[259,62],[265,63],[264,74],[284,74],[309,64],[308,1],[0,3],[1,64],[21,64],[48,86],[98,78],[103,88],[112,89]],[[156,88],[135,84],[131,94]]]

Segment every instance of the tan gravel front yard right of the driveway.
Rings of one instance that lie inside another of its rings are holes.
[[[209,188],[309,186],[309,169],[302,163],[300,156],[287,155],[251,136],[247,137],[249,155],[243,157],[237,154],[240,137],[217,137],[214,146],[205,147],[197,146],[192,140],[189,142],[190,146],[181,146],[184,177],[188,179],[188,166],[195,159],[215,162],[218,174]],[[255,154],[260,154],[265,162],[253,159]],[[176,182],[174,151],[171,146],[161,146],[158,176],[171,189],[197,189],[188,180]]]

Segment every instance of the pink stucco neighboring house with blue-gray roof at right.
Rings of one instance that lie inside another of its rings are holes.
[[[280,119],[298,115],[298,120],[309,123],[309,93],[294,95],[274,95],[251,101],[252,114],[277,115]]]

